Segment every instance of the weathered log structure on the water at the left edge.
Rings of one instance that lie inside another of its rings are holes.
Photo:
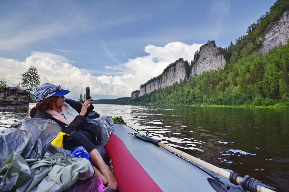
[[[30,94],[17,87],[0,87],[0,106],[27,106]]]

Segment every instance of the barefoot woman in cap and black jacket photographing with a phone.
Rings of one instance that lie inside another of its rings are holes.
[[[70,91],[63,90],[60,86],[51,83],[44,83],[34,92],[37,100],[36,106],[30,110],[30,117],[52,119],[61,127],[61,131],[69,134],[63,140],[63,148],[71,150],[73,147],[83,146],[90,153],[92,163],[99,168],[95,169],[97,177],[108,184],[112,189],[117,188],[114,174],[105,164],[101,155],[97,151],[94,143],[96,140],[96,130],[86,122],[86,116],[93,110],[92,99],[81,105],[79,102],[64,99],[64,95]]]

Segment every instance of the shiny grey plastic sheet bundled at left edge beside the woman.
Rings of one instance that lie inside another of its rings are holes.
[[[27,118],[14,123],[0,134],[0,165],[12,151],[24,159],[41,159],[60,130],[49,119]]]

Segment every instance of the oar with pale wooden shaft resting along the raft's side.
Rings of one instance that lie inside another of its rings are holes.
[[[147,135],[140,134],[140,133],[129,133],[129,134],[137,136],[143,140],[149,141],[156,146],[163,147],[164,149],[167,149],[168,151],[171,151],[171,152],[173,152],[173,153],[175,153],[181,157],[184,157],[184,158],[186,158],[186,159],[188,159],[188,160],[190,160],[196,164],[199,164],[200,166],[229,179],[230,182],[234,183],[235,185],[240,184],[244,190],[248,190],[251,192],[275,192],[275,191],[273,191],[267,187],[260,185],[259,182],[251,179],[248,175],[246,175],[246,176],[244,176],[244,178],[242,178],[237,173],[228,172],[224,169],[218,168],[218,167],[216,167],[212,164],[209,164],[209,163],[207,163],[201,159],[198,159],[192,155],[189,155],[188,153],[184,153],[183,151],[180,151],[180,150],[175,149],[171,146],[168,146],[168,145],[160,142],[159,140],[153,139]]]

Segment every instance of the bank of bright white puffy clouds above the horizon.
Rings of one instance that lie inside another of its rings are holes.
[[[71,90],[68,95],[70,98],[76,99],[88,86],[91,95],[126,97],[139,89],[141,83],[161,74],[168,64],[178,58],[190,61],[201,45],[181,42],[168,43],[164,47],[148,45],[144,49],[148,56],[129,59],[128,62],[116,66],[105,66],[106,69],[118,72],[116,75],[101,76],[94,76],[89,70],[73,66],[73,62],[63,56],[32,52],[24,62],[0,58],[0,78],[4,78],[8,85],[18,84],[21,82],[22,73],[32,65],[38,69],[41,83],[59,84],[64,89]]]

